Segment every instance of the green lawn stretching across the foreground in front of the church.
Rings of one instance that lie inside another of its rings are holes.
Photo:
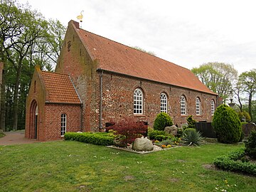
[[[0,191],[255,191],[255,177],[203,167],[241,147],[140,155],[73,141],[0,146]]]

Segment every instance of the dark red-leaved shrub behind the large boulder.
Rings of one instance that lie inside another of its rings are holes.
[[[137,122],[137,119],[130,117],[122,119],[108,128],[113,129],[115,134],[124,136],[122,137],[124,143],[132,144],[136,138],[142,137],[142,135],[146,136],[148,127],[144,122]]]

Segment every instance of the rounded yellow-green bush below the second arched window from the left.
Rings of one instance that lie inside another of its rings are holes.
[[[165,127],[169,127],[171,125],[173,125],[173,122],[169,114],[166,114],[165,112],[161,112],[156,115],[156,119],[154,120],[155,130],[164,131]]]

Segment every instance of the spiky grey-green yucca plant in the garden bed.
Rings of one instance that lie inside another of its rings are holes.
[[[188,129],[183,133],[182,139],[183,143],[188,144],[188,146],[198,146],[202,143],[203,137],[201,132],[196,132],[196,129]]]

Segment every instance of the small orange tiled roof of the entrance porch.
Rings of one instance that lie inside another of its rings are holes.
[[[46,87],[46,102],[81,104],[69,75],[42,71],[41,76]]]

